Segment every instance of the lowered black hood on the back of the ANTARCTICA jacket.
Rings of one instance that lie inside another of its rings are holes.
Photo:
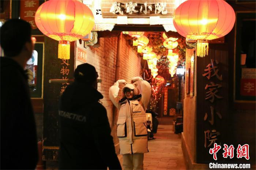
[[[100,92],[92,86],[75,81],[66,88],[60,102],[65,110],[74,111],[86,105],[97,103],[102,98]]]

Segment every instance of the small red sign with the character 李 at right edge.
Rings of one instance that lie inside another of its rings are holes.
[[[256,96],[256,79],[241,79],[240,82],[242,96]]]

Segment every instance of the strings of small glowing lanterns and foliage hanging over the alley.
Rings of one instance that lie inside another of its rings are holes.
[[[176,73],[178,63],[186,56],[186,39],[167,36],[164,32],[123,32],[129,44],[144,60],[147,60],[152,78],[161,75],[170,80]]]

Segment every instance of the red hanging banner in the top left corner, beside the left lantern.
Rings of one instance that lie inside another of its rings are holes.
[[[39,0],[20,1],[20,19],[24,19],[25,21],[28,21],[32,29],[37,28],[35,23],[35,14],[38,7],[39,7]]]

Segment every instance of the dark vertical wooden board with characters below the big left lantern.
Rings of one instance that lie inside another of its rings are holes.
[[[72,79],[74,74],[74,42],[70,44],[70,59],[58,59],[58,41],[45,36],[44,58],[44,129],[43,160],[58,160],[59,97],[68,83],[49,83],[49,79]]]

